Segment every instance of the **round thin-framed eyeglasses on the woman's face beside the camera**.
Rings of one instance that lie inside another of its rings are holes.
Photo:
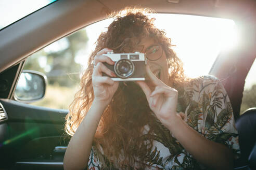
[[[152,45],[145,50],[145,54],[148,60],[157,61],[162,57],[163,49],[160,45]]]

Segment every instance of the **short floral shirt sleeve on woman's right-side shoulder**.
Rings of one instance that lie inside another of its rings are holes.
[[[200,131],[209,140],[228,146],[239,157],[238,132],[228,95],[219,79],[208,77],[200,90]]]

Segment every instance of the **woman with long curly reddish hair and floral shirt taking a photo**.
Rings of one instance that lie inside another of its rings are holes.
[[[224,88],[214,77],[186,78],[147,12],[126,8],[99,36],[66,117],[65,169],[233,169],[239,146]],[[111,50],[145,53],[147,80],[109,78]]]

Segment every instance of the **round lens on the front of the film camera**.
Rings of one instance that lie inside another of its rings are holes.
[[[120,78],[129,78],[134,73],[134,64],[129,59],[120,59],[114,65],[114,72]]]

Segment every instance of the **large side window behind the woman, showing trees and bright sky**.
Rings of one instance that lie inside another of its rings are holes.
[[[232,20],[173,14],[150,17],[156,18],[156,26],[172,39],[175,45],[172,48],[183,60],[189,77],[207,75],[221,49],[226,48],[226,44],[234,44],[228,40],[235,41]],[[95,48],[99,34],[106,31],[111,22],[112,19],[107,19],[91,24],[27,59],[24,69],[42,72],[48,79],[45,97],[33,105],[68,109],[79,88],[80,73],[86,67],[88,55]]]

